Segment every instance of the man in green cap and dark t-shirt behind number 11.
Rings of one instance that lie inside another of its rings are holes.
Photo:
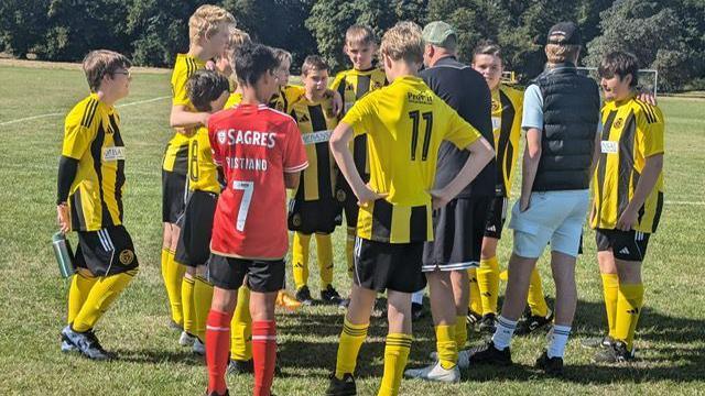
[[[423,38],[424,65],[427,67],[421,74],[424,81],[488,142],[494,142],[489,88],[479,73],[456,59],[455,30],[442,21],[431,22],[423,30]],[[468,151],[444,142],[438,152],[435,188],[447,185],[469,155]],[[480,260],[485,219],[495,196],[496,172],[492,158],[457,198],[434,212],[435,239],[424,245],[423,272],[431,292],[438,360],[425,369],[406,371],[406,376],[456,382],[460,378],[457,365],[467,366],[467,352],[457,352],[467,341],[467,270],[477,266]]]

